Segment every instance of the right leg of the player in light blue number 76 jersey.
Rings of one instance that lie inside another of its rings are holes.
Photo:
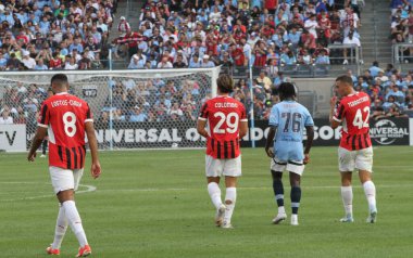
[[[301,176],[304,172],[303,162],[288,162],[287,171],[290,177],[290,198],[291,198],[291,224],[298,225],[298,209],[301,201]]]

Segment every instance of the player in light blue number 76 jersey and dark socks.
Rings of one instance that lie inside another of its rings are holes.
[[[291,185],[291,224],[298,225],[298,208],[301,199],[301,176],[304,165],[310,162],[310,149],[314,138],[314,121],[310,112],[296,101],[297,89],[290,82],[283,82],[279,88],[280,103],[273,106],[270,114],[270,131],[265,152],[271,157],[273,190],[278,205],[278,214],[273,223],[287,219],[284,208],[283,172],[289,171]],[[303,150],[303,132],[306,129],[306,143]],[[275,141],[274,141],[275,138]]]

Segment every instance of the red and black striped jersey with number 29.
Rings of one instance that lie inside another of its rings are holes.
[[[198,119],[208,120],[209,124],[206,155],[214,158],[239,156],[239,124],[247,121],[246,108],[241,102],[218,95],[203,104]]]

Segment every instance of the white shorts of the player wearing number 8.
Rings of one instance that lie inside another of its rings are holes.
[[[62,191],[77,190],[82,176],[84,175],[84,169],[64,169],[59,167],[49,167],[50,178],[53,185],[53,191],[55,194]]]

